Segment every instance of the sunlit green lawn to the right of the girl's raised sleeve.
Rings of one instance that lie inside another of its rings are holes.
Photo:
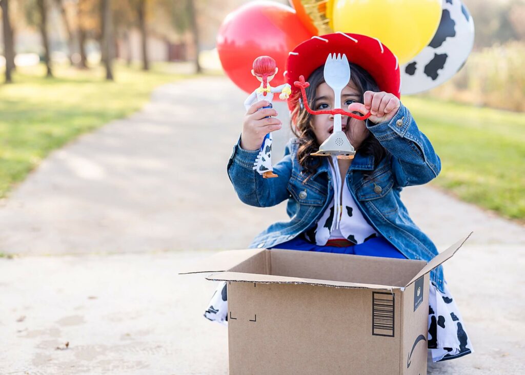
[[[433,184],[460,199],[525,220],[525,114],[403,98],[442,161]]]

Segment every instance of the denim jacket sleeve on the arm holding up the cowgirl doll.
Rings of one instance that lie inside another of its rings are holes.
[[[274,173],[279,177],[263,178],[253,169],[259,150],[240,148],[240,137],[228,160],[228,176],[241,201],[255,207],[271,207],[288,199],[288,181],[291,177],[291,142],[285,148],[285,156],[275,164]]]

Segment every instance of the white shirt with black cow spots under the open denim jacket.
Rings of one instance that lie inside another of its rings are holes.
[[[339,168],[334,169],[337,165],[337,157],[332,156],[330,171],[334,197],[317,224],[304,233],[307,240],[319,246],[324,246],[328,240],[341,238],[359,244],[377,235],[352,198],[346,179],[341,179]]]

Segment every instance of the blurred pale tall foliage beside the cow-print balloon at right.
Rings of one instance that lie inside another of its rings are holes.
[[[525,111],[525,1],[463,2],[474,18],[474,49],[463,69],[424,95]]]

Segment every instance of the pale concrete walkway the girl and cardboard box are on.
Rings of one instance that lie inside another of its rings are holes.
[[[286,219],[225,173],[244,99],[224,78],[167,84],[1,203],[0,252],[20,256],[0,259],[0,373],[227,373],[226,329],[202,317],[215,285],[177,270]],[[430,187],[403,199],[440,249],[475,231],[445,272],[476,353],[429,373],[525,373],[525,229]]]

